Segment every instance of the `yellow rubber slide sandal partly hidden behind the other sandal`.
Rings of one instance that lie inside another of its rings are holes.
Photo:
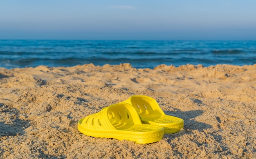
[[[151,97],[145,95],[133,95],[124,102],[135,108],[142,123],[162,126],[164,127],[164,133],[166,134],[179,132],[184,126],[183,119],[166,115],[158,105],[157,101]]]

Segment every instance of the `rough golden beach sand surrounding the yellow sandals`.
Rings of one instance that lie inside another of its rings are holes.
[[[184,129],[153,144],[95,138],[79,119],[147,95]],[[0,158],[255,158],[256,64],[0,68]]]

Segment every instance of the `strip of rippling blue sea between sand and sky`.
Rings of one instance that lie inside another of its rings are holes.
[[[0,40],[0,67],[256,64],[256,41]]]

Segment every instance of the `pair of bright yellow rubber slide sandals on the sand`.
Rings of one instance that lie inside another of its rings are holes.
[[[79,120],[78,130],[91,137],[150,144],[161,140],[164,133],[180,131],[183,125],[183,119],[166,115],[155,99],[133,95]]]

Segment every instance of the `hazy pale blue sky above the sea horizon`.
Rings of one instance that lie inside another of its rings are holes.
[[[256,40],[256,0],[0,0],[0,39]]]

